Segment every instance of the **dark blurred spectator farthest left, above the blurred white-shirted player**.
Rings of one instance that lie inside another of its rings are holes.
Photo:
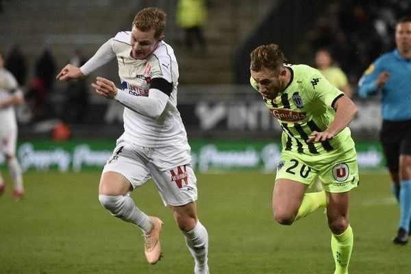
[[[19,86],[25,86],[27,82],[27,60],[19,45],[14,45],[5,59],[5,68],[16,77]]]

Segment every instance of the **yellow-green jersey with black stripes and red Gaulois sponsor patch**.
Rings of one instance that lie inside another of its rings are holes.
[[[271,114],[282,127],[282,145],[286,151],[318,155],[334,149],[349,150],[354,147],[348,127],[331,140],[308,144],[311,133],[323,132],[334,121],[334,103],[344,93],[316,69],[303,64],[290,65],[291,79],[285,90],[275,99],[263,97]],[[251,86],[258,90],[251,77]]]

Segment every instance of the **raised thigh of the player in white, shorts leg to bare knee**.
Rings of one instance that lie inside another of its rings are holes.
[[[112,191],[105,193],[107,195],[125,195],[129,190],[145,184],[149,179],[151,176],[144,151],[139,151],[129,142],[119,140],[112,156],[104,166],[100,190]]]

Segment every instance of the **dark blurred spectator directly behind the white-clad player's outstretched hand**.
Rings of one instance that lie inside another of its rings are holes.
[[[69,64],[80,67],[86,63],[80,49],[75,49]],[[86,77],[67,83],[65,113],[68,123],[81,123],[88,108]]]

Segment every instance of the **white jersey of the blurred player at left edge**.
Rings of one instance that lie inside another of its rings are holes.
[[[16,78],[6,69],[0,69],[0,103],[9,101],[21,90],[18,89]],[[12,106],[0,108],[0,138],[15,134],[17,131],[16,114]]]

